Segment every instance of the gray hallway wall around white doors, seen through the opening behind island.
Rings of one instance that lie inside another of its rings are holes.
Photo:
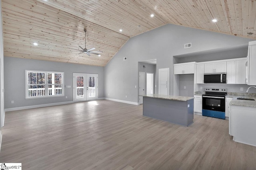
[[[145,66],[145,67],[143,67],[143,66]],[[139,62],[138,63],[138,71],[145,73],[145,94],[147,94],[147,72],[148,73],[154,73],[154,92],[155,92],[156,91],[156,88],[155,88],[155,84],[156,84],[156,64],[147,64],[147,63]]]

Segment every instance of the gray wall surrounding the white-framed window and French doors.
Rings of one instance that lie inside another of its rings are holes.
[[[65,96],[52,98],[25,99],[25,70],[61,71],[64,72]],[[98,98],[104,98],[104,67],[88,66],[84,64],[58,63],[4,57],[4,108],[34,106],[58,102],[73,101],[73,73],[98,74]],[[14,100],[14,104],[11,101]]]

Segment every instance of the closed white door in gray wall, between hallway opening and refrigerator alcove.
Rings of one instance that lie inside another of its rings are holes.
[[[169,95],[169,68],[159,68],[158,72],[158,94]]]

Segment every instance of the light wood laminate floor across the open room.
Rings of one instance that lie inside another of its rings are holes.
[[[256,147],[232,141],[228,120],[183,127],[108,100],[9,111],[2,133],[0,162],[24,170],[256,168]]]

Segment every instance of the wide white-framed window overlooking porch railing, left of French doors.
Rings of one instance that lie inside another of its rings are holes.
[[[63,72],[26,70],[26,98],[64,96]]]

